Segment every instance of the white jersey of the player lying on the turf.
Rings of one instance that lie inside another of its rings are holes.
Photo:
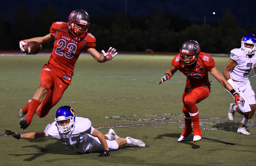
[[[60,133],[58,130],[57,123],[53,122],[46,126],[44,132],[47,136],[57,138],[69,150],[77,153],[90,153],[103,149],[98,138],[90,135],[94,128],[87,118],[76,117],[76,123],[68,133]]]

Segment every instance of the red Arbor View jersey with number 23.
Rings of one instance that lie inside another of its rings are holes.
[[[54,36],[54,47],[52,55],[47,63],[47,67],[70,84],[74,75],[74,65],[80,53],[88,48],[96,46],[96,39],[88,33],[81,41],[75,41],[68,33],[66,22],[54,22],[50,28],[50,33]]]

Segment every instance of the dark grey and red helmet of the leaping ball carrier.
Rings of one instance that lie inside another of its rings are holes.
[[[68,16],[68,30],[75,37],[74,40],[82,40],[87,35],[89,25],[89,15],[84,10],[76,9]]]

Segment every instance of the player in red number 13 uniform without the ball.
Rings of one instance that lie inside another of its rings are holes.
[[[186,75],[186,87],[182,96],[185,127],[178,141],[186,140],[194,128],[193,141],[202,139],[202,132],[199,126],[199,115],[196,103],[206,99],[210,94],[210,82],[208,79],[208,71],[220,83],[228,89],[238,102],[244,103],[244,99],[240,97],[233,87],[224,79],[220,72],[215,68],[214,59],[207,53],[200,52],[200,46],[197,41],[188,40],[183,43],[180,53],[172,59],[172,67],[166,71],[160,83],[170,79],[176,71],[180,70]],[[160,84],[159,83],[159,84]],[[191,126],[193,124],[193,128]]]

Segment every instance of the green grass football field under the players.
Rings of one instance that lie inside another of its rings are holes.
[[[72,85],[60,102],[45,117],[34,116],[26,130],[19,127],[18,111],[32,98],[40,85],[40,73],[49,56],[0,56],[0,165],[3,166],[254,166],[256,162],[255,117],[247,130],[250,136],[237,134],[242,117],[228,121],[233,98],[210,75],[209,97],[197,104],[202,140],[193,135],[178,142],[184,124],[182,93],[186,77],[179,71],[161,85],[159,81],[171,67],[173,55],[117,55],[106,63],[91,56],[79,57]],[[222,70],[227,56],[213,56]],[[254,71],[250,73],[254,75]],[[250,77],[256,88],[256,77]],[[58,107],[70,105],[78,117],[86,117],[103,134],[113,126],[121,137],[131,136],[145,142],[145,148],[122,146],[106,158],[98,153],[77,155],[54,138],[16,140],[5,136],[14,132],[42,131],[54,121]],[[134,125],[133,125],[134,124]],[[136,124],[136,125],[135,125]],[[104,127],[102,127],[104,126]]]

